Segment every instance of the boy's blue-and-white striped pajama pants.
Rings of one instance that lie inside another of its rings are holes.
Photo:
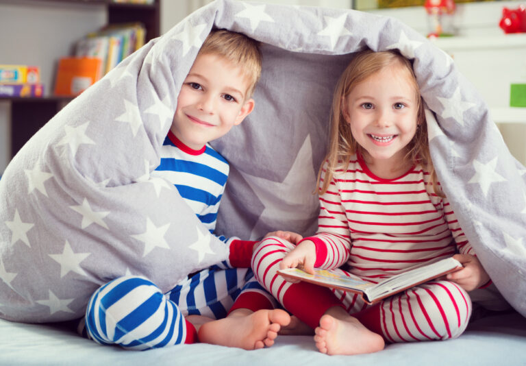
[[[204,269],[168,293],[146,278],[116,278],[90,298],[86,335],[102,345],[116,344],[128,350],[184,343],[186,315],[223,318],[238,295],[248,291],[277,304],[247,268]]]

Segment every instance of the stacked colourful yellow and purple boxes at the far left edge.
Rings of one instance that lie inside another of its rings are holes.
[[[1,65],[0,97],[42,97],[44,86],[40,83],[37,66]]]

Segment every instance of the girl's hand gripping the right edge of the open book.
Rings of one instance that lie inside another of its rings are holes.
[[[462,289],[473,291],[490,280],[490,276],[488,276],[488,273],[486,273],[476,256],[455,254],[453,258],[462,263],[464,268],[447,274],[446,279],[457,283]]]

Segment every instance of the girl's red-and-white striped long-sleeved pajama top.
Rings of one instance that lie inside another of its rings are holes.
[[[322,180],[327,162],[323,167]],[[375,176],[356,156],[346,171],[333,175],[320,196],[316,267],[349,271],[379,282],[382,278],[455,254],[475,254],[449,205],[434,193],[420,165],[399,178]]]

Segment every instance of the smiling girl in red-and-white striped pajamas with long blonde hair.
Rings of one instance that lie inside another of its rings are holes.
[[[277,237],[262,241],[252,259],[256,278],[316,328],[314,341],[323,353],[458,337],[471,315],[466,291],[490,278],[437,182],[410,61],[395,51],[353,58],[336,87],[330,136],[318,173],[318,232],[296,247]],[[276,273],[347,265],[349,273],[379,282],[449,256],[464,268],[371,306],[352,293],[286,282]]]

